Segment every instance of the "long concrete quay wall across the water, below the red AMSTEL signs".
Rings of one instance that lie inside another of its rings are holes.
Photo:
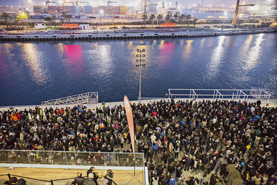
[[[0,41],[63,41],[63,40],[104,40],[104,39],[146,39],[168,37],[204,37],[220,35],[242,35],[259,33],[277,33],[277,29],[269,30],[239,30],[239,31],[213,31],[209,33],[183,32],[142,32],[142,33],[83,33],[83,34],[23,34],[23,35],[0,35]]]

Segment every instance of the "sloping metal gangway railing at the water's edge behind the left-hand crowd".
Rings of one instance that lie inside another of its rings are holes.
[[[89,99],[92,97],[97,98],[97,102],[98,102],[98,92],[86,92],[83,94],[77,94],[69,97],[43,101],[41,105],[64,105],[64,104],[88,103]]]

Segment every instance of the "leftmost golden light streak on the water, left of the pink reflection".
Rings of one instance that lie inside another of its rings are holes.
[[[43,51],[40,51],[38,47],[32,43],[23,43],[22,50],[22,58],[30,68],[30,79],[38,85],[44,85],[49,80],[50,75],[46,68],[47,65],[42,61],[46,59],[46,56],[42,54]]]

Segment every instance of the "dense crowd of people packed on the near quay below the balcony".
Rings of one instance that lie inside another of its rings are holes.
[[[147,105],[131,104],[135,148],[144,153],[149,183],[220,184],[228,180],[227,166],[234,165],[247,185],[276,184],[277,108],[260,105],[260,100],[175,102],[174,98]],[[132,152],[126,113],[121,105],[3,110],[0,141],[3,150],[30,150],[28,154],[34,162],[55,163],[62,161],[61,151],[73,151],[76,153],[70,156],[71,162],[76,164],[143,164],[142,158],[134,160],[132,154],[121,154]],[[123,144],[127,149],[123,150]],[[35,150],[55,153],[41,154]],[[118,154],[104,157],[93,152]],[[22,158],[15,151],[1,153],[4,161]],[[189,177],[184,179],[188,173]],[[209,174],[211,177],[207,178]]]

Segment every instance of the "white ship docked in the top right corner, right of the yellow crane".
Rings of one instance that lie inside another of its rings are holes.
[[[250,17],[275,17],[277,16],[277,7],[268,2],[251,3],[254,6],[247,7],[247,13]],[[250,4],[249,4],[250,5]]]

